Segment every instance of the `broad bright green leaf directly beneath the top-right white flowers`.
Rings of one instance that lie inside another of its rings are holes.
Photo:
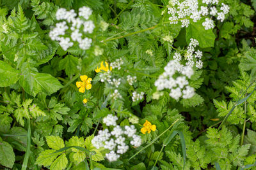
[[[212,29],[205,30],[202,23],[204,20],[198,22],[191,22],[188,28],[186,28],[186,41],[190,42],[191,38],[194,38],[198,41],[199,46],[202,48],[207,48],[214,46],[215,35],[212,32]]]

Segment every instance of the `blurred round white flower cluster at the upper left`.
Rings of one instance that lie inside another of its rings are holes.
[[[56,26],[49,32],[49,36],[52,40],[59,41],[61,48],[67,50],[74,43],[79,44],[79,48],[82,50],[88,50],[92,45],[92,39],[83,37],[80,32],[81,29],[84,33],[92,34],[95,25],[92,20],[88,20],[92,15],[92,10],[86,6],[79,8],[78,17],[74,10],[67,11],[65,8],[60,8],[56,12],[56,19],[63,20],[56,24]],[[66,31],[70,28],[72,33],[65,38]]]

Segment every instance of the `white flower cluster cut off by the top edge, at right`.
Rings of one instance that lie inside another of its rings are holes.
[[[222,3],[218,11],[218,0],[203,0],[202,2],[203,6],[199,6],[198,0],[182,0],[182,2],[170,0],[170,6],[168,6],[168,13],[171,14],[170,24],[178,24],[180,20],[182,27],[188,27],[189,18],[193,19],[193,22],[197,22],[202,17],[207,17],[202,24],[207,30],[214,28],[211,17],[216,17],[221,22],[225,20],[225,14],[230,10],[227,4]]]

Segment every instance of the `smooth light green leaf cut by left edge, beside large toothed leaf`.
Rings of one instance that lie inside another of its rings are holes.
[[[19,80],[20,71],[0,60],[0,75],[0,87],[8,87]]]

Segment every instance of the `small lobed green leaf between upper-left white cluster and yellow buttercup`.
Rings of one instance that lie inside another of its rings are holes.
[[[60,61],[59,68],[65,69],[66,74],[70,77],[77,71],[78,59],[73,55],[67,55]]]

